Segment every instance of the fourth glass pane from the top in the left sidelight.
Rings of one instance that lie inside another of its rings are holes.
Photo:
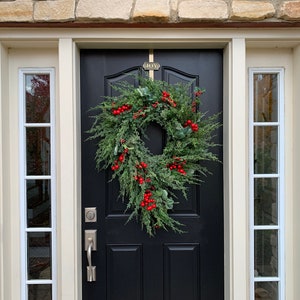
[[[28,279],[51,279],[51,233],[28,233]]]

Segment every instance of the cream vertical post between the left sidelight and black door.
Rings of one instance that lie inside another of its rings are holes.
[[[79,53],[72,39],[59,40],[60,126],[57,166],[58,299],[81,299],[81,163]],[[59,125],[58,125],[59,126]],[[68,276],[65,276],[68,274]]]

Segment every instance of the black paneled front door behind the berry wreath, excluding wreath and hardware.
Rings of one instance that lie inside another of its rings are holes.
[[[208,115],[222,111],[221,50],[154,50],[161,67],[155,79],[170,83],[195,81],[206,89],[202,110]],[[212,174],[189,191],[170,212],[186,225],[187,233],[158,231],[150,238],[140,224],[124,214],[118,184],[111,171],[97,172],[95,143],[85,141],[92,124],[91,107],[112,95],[110,85],[130,80],[149,60],[147,50],[82,50],[82,208],[83,242],[86,229],[97,229],[97,251],[92,252],[96,281],[87,282],[86,251],[82,256],[85,300],[221,300],[224,299],[223,170],[210,163]],[[222,121],[220,119],[220,121]],[[161,132],[150,134],[154,148],[163,147]],[[216,132],[222,144],[222,129]],[[152,146],[151,146],[152,147]],[[155,149],[153,151],[156,151]],[[222,147],[214,149],[222,160]],[[85,207],[97,208],[97,222],[87,223]]]

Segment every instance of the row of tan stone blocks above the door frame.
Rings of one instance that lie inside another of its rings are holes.
[[[297,0],[0,0],[2,26],[24,22],[183,25],[258,22],[268,26],[299,21]]]

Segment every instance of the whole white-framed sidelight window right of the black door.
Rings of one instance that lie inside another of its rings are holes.
[[[283,76],[249,72],[251,300],[285,299]]]

